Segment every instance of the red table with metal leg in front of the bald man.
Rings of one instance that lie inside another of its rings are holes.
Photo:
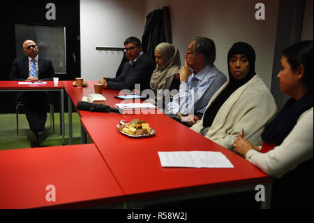
[[[64,104],[63,104],[63,85],[61,82],[58,85],[54,85],[53,81],[45,81],[46,84],[33,84],[31,82],[25,82],[28,84],[21,85],[17,80],[0,81],[1,92],[21,92],[21,91],[57,91],[61,94],[61,132],[62,132],[62,145],[65,145],[65,125],[64,125]]]

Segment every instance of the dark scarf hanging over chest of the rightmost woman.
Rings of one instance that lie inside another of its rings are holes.
[[[309,91],[299,100],[290,98],[280,113],[265,127],[262,133],[264,143],[281,145],[285,137],[290,134],[300,115],[313,107],[313,92]]]

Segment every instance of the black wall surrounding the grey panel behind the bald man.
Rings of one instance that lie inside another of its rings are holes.
[[[56,20],[47,20],[47,3],[56,6]],[[80,76],[80,0],[75,1],[6,1],[1,7],[1,59],[3,61],[0,80],[10,80],[12,62],[16,58],[15,24],[36,24],[66,27],[66,75],[60,80],[75,80]],[[17,49],[19,50],[19,49]],[[22,50],[22,45],[20,50]],[[76,62],[73,59],[75,54]],[[40,50],[39,50],[40,55]],[[58,75],[56,75],[58,76]],[[0,113],[15,113],[15,93],[0,92],[3,105]],[[58,97],[54,97],[59,110]],[[66,106],[67,108],[67,106]]]

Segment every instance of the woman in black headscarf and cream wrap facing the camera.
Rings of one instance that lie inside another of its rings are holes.
[[[229,80],[211,98],[201,120],[191,129],[232,150],[238,134],[262,143],[264,126],[276,115],[276,104],[255,74],[255,51],[248,43],[232,45],[227,55]]]

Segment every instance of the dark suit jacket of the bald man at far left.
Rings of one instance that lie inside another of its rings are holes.
[[[50,59],[38,56],[38,79],[52,80],[54,67]],[[29,78],[29,57],[24,56],[13,61],[10,80],[26,80]]]

